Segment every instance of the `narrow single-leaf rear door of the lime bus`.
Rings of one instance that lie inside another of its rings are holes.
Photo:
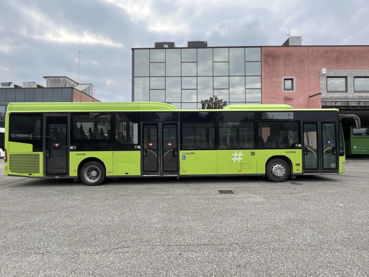
[[[69,176],[69,115],[44,116],[44,176]]]

